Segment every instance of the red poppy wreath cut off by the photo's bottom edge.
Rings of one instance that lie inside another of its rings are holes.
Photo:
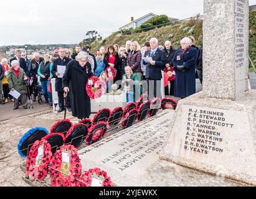
[[[77,181],[77,187],[114,187],[107,172],[98,168],[90,169]]]

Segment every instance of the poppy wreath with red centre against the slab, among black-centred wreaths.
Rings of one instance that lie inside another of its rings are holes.
[[[85,137],[85,142],[87,146],[90,146],[91,144],[100,141],[100,139],[102,139],[105,134],[107,134],[107,126],[108,123],[99,122],[90,127],[89,133]]]

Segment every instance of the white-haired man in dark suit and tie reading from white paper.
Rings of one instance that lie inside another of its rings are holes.
[[[146,65],[146,81],[148,83],[148,94],[149,99],[153,98],[161,98],[161,78],[162,78],[162,70],[165,64],[165,57],[163,50],[157,48],[158,39],[151,38],[149,41],[150,50],[145,52],[144,57],[152,57],[153,61],[150,63],[145,62],[143,60],[143,64]],[[151,92],[154,86],[154,94]]]

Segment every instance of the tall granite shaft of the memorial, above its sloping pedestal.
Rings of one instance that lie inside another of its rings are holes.
[[[248,1],[204,1],[203,24],[203,94],[235,100],[249,90]]]

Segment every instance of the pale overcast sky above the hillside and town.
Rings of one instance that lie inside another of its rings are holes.
[[[0,46],[78,44],[87,31],[97,30],[105,38],[132,16],[153,12],[186,19],[202,14],[203,0],[9,0],[0,1],[0,7]]]

